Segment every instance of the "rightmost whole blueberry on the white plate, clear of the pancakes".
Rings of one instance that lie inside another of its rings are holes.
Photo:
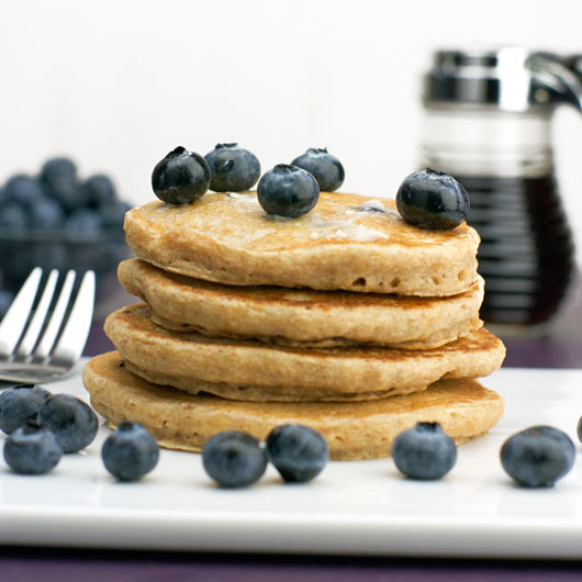
[[[501,448],[501,463],[521,485],[551,486],[574,465],[570,437],[552,426],[531,426],[511,436]]]

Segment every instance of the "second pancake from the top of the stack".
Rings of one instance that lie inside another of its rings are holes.
[[[139,259],[120,264],[125,290],[146,301],[155,323],[177,332],[256,338],[291,347],[370,343],[399,349],[448,344],[481,327],[483,279],[449,298],[349,291],[227,287],[164,271]]]

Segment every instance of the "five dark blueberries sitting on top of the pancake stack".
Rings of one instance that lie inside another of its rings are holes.
[[[211,189],[243,192],[258,180],[257,199],[268,214],[294,219],[312,210],[320,191],[344,182],[342,163],[326,148],[312,147],[291,164],[278,164],[260,177],[260,163],[238,144],[217,144],[204,157],[177,147],[152,174],[155,194],[169,204],[191,204]],[[405,178],[396,193],[402,217],[425,228],[455,228],[467,220],[469,195],[451,176],[426,168]]]

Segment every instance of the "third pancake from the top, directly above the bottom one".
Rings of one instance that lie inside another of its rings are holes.
[[[113,312],[105,333],[135,371],[184,391],[239,400],[342,400],[424,390],[443,377],[496,370],[505,348],[484,328],[435,349],[300,349],[165,329],[144,303]]]

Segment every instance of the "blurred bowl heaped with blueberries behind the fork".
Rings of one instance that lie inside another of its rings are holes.
[[[34,267],[92,269],[94,317],[120,306],[116,268],[131,255],[123,233],[131,208],[109,176],[82,178],[67,157],[48,159],[36,176],[11,176],[0,187],[0,318]]]

